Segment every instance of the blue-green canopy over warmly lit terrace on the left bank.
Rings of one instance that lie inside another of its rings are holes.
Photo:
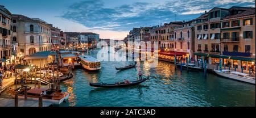
[[[24,60],[36,66],[44,66],[55,61],[56,56],[57,53],[55,51],[43,51],[31,54],[30,56],[24,58]]]

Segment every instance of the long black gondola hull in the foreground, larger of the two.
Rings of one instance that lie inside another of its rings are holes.
[[[121,83],[121,84],[118,84],[117,82],[115,82],[115,83],[91,83],[90,82],[90,86],[93,86],[93,87],[108,87],[108,88],[111,88],[111,87],[127,87],[127,86],[139,85],[140,83],[146,81],[147,79],[149,79],[149,76],[147,76],[146,78],[143,78],[141,80],[138,80],[138,81],[133,81],[131,83]]]

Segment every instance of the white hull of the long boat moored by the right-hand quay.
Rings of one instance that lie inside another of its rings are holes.
[[[220,75],[221,77],[227,78],[227,79],[232,79],[235,81],[240,81],[240,82],[246,82],[246,83],[250,83],[255,85],[255,80],[253,81],[253,79],[247,79],[247,78],[243,78],[243,77],[238,77],[236,75],[230,75],[230,74],[226,74],[226,73],[222,73],[220,70],[214,70],[215,73],[217,75]]]

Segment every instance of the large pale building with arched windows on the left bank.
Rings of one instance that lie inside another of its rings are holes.
[[[18,53],[23,56],[35,52],[51,50],[51,26],[38,18],[28,18],[24,15],[13,15],[16,22],[16,36]]]

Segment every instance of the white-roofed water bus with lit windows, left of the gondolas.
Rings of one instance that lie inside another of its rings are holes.
[[[87,70],[100,70],[101,69],[101,61],[97,58],[93,58],[91,56],[79,56],[81,61],[81,65],[83,68]]]

